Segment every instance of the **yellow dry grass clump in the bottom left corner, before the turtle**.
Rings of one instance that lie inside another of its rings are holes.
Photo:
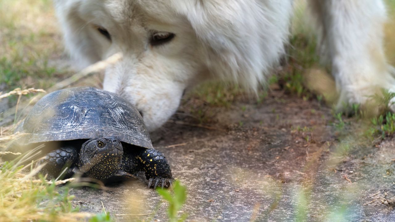
[[[4,153],[2,153],[4,154]],[[30,156],[30,158],[27,158]],[[31,159],[33,152],[27,153],[19,162]],[[58,184],[68,181],[45,181],[34,179],[39,169],[32,164],[17,167],[18,163],[3,163],[0,166],[0,221],[81,221],[94,216],[79,213],[72,207],[68,188],[58,188]],[[31,168],[26,175],[23,170]],[[57,190],[60,190],[58,192]]]

